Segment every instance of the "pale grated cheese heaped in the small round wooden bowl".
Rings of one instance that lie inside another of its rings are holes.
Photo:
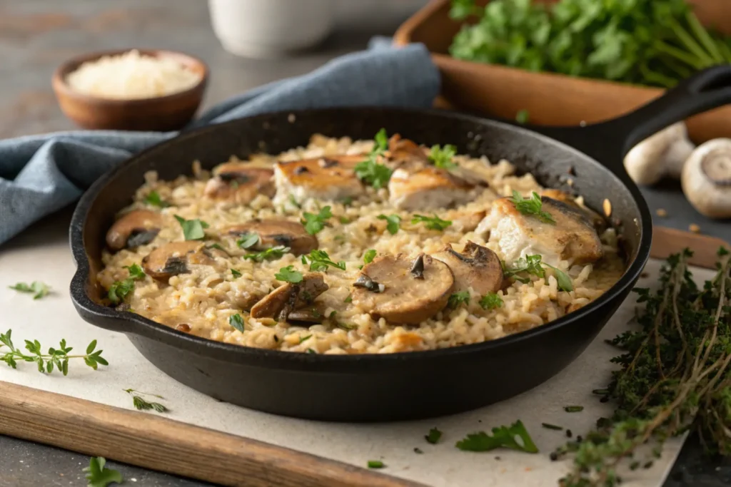
[[[131,50],[81,64],[66,81],[72,90],[110,99],[165,96],[192,88],[200,75],[170,58],[155,58]]]

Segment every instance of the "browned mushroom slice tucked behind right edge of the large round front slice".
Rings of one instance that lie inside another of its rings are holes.
[[[501,288],[503,280],[500,258],[492,250],[474,242],[467,242],[461,253],[452,245],[447,245],[442,252],[435,253],[438,258],[450,266],[455,276],[455,293],[472,288],[477,294],[494,293]]]

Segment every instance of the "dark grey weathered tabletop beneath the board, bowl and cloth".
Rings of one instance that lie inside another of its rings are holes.
[[[316,50],[294,58],[237,58],[219,47],[202,0],[0,0],[0,138],[68,130],[50,89],[53,69],[87,50],[151,47],[182,50],[211,67],[205,106],[282,77],[311,71],[366,46],[374,35],[390,35],[423,0],[341,0],[336,30]],[[173,8],[174,6],[174,8]],[[678,183],[643,190],[653,211],[667,210],[657,225],[688,229],[731,240],[728,221],[710,221],[685,201]],[[69,218],[64,211],[52,218]],[[0,248],[0,252],[2,252]],[[69,434],[73,434],[69,432]],[[81,469],[88,457],[0,436],[0,487],[85,486]],[[193,487],[205,484],[109,463],[126,485]],[[547,484],[549,485],[549,484]],[[683,448],[665,487],[731,485],[731,462],[702,456],[694,437]]]

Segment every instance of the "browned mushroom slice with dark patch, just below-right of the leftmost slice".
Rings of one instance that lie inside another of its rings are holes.
[[[142,259],[147,275],[159,280],[167,280],[178,274],[190,272],[189,265],[211,265],[213,255],[220,250],[205,248],[202,242],[170,242],[153,250]]]

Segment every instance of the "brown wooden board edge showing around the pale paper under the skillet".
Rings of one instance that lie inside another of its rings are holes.
[[[694,250],[713,268],[721,239],[656,227],[651,256]],[[425,487],[179,421],[0,381],[0,434],[224,486]]]

